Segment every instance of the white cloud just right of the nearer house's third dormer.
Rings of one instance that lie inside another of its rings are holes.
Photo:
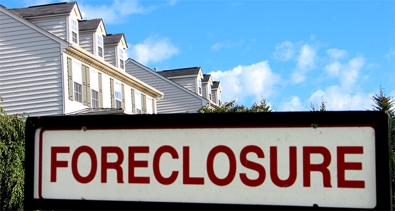
[[[149,36],[143,43],[128,49],[128,55],[142,64],[162,62],[180,52],[181,50],[171,43],[170,38],[159,35]]]

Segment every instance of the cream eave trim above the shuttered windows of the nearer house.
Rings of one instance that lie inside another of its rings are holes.
[[[143,81],[124,72],[124,70],[113,66],[112,64],[104,61],[103,58],[93,55],[90,52],[82,49],[79,46],[72,44],[70,46],[70,48],[66,49],[66,54],[75,54],[75,55],[81,57],[82,59],[86,59],[90,62],[89,65],[91,65],[91,66],[97,65],[97,67],[95,67],[95,68],[97,68],[101,71],[103,71],[103,69],[104,69],[106,71],[106,73],[109,74],[110,76],[112,76],[116,79],[119,79],[121,81],[129,81],[131,83],[132,87],[134,87],[137,90],[142,91],[146,94],[150,94],[155,97],[164,95],[161,91],[156,90],[155,88],[147,85]],[[100,69],[100,67],[102,69]]]

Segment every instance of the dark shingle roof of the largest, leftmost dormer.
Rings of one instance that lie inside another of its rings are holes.
[[[29,18],[29,17],[38,17],[45,15],[68,14],[71,12],[75,4],[77,4],[77,2],[62,2],[62,3],[55,3],[49,5],[31,6],[26,8],[10,8],[9,10],[22,16],[23,18]],[[81,15],[81,11],[80,11],[80,15]]]

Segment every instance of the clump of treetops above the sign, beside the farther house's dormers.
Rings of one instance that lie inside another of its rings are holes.
[[[216,106],[214,108],[203,107],[199,109],[199,113],[237,113],[237,112],[272,112],[275,111],[270,107],[270,104],[267,103],[266,99],[261,96],[261,100],[259,102],[255,102],[251,108],[248,108],[244,105],[237,105],[237,99]]]

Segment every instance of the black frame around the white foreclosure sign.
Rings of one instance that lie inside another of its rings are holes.
[[[131,209],[269,209],[269,210],[354,210],[354,208],[311,206],[278,206],[250,204],[173,203],[141,201],[62,200],[33,198],[34,139],[37,128],[140,127],[220,128],[236,126],[344,126],[374,124],[376,147],[376,202],[371,210],[392,210],[390,152],[390,117],[383,111],[205,113],[154,115],[75,115],[28,117],[26,120],[25,209],[43,210],[131,210]]]

